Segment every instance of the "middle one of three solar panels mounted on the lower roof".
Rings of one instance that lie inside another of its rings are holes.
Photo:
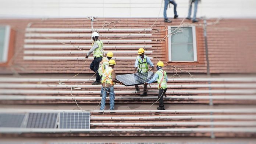
[[[58,113],[29,113],[27,128],[56,128]]]

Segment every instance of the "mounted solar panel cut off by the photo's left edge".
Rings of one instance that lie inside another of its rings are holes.
[[[0,127],[21,127],[25,114],[0,114]]]

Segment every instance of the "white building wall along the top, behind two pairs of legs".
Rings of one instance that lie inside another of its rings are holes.
[[[176,0],[180,17],[188,1]],[[0,18],[163,17],[163,6],[164,0],[0,0]],[[255,0],[202,0],[198,16],[255,18],[255,6]],[[167,16],[173,17],[172,5]]]

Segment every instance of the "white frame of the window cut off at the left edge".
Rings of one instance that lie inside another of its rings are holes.
[[[3,60],[0,63],[7,62],[8,58],[8,50],[9,50],[9,43],[10,43],[10,33],[11,33],[11,26],[4,25],[5,27],[5,34],[4,34],[4,50],[3,50]]]

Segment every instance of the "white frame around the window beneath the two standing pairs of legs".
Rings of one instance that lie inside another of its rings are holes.
[[[171,33],[171,28],[177,26],[168,26],[168,34]],[[192,35],[193,35],[193,54],[194,54],[194,61],[172,61],[171,60],[171,36],[168,37],[168,61],[171,62],[196,62],[197,60],[197,47],[196,47],[196,27],[195,26],[186,26],[184,28],[191,27],[192,28]]]

